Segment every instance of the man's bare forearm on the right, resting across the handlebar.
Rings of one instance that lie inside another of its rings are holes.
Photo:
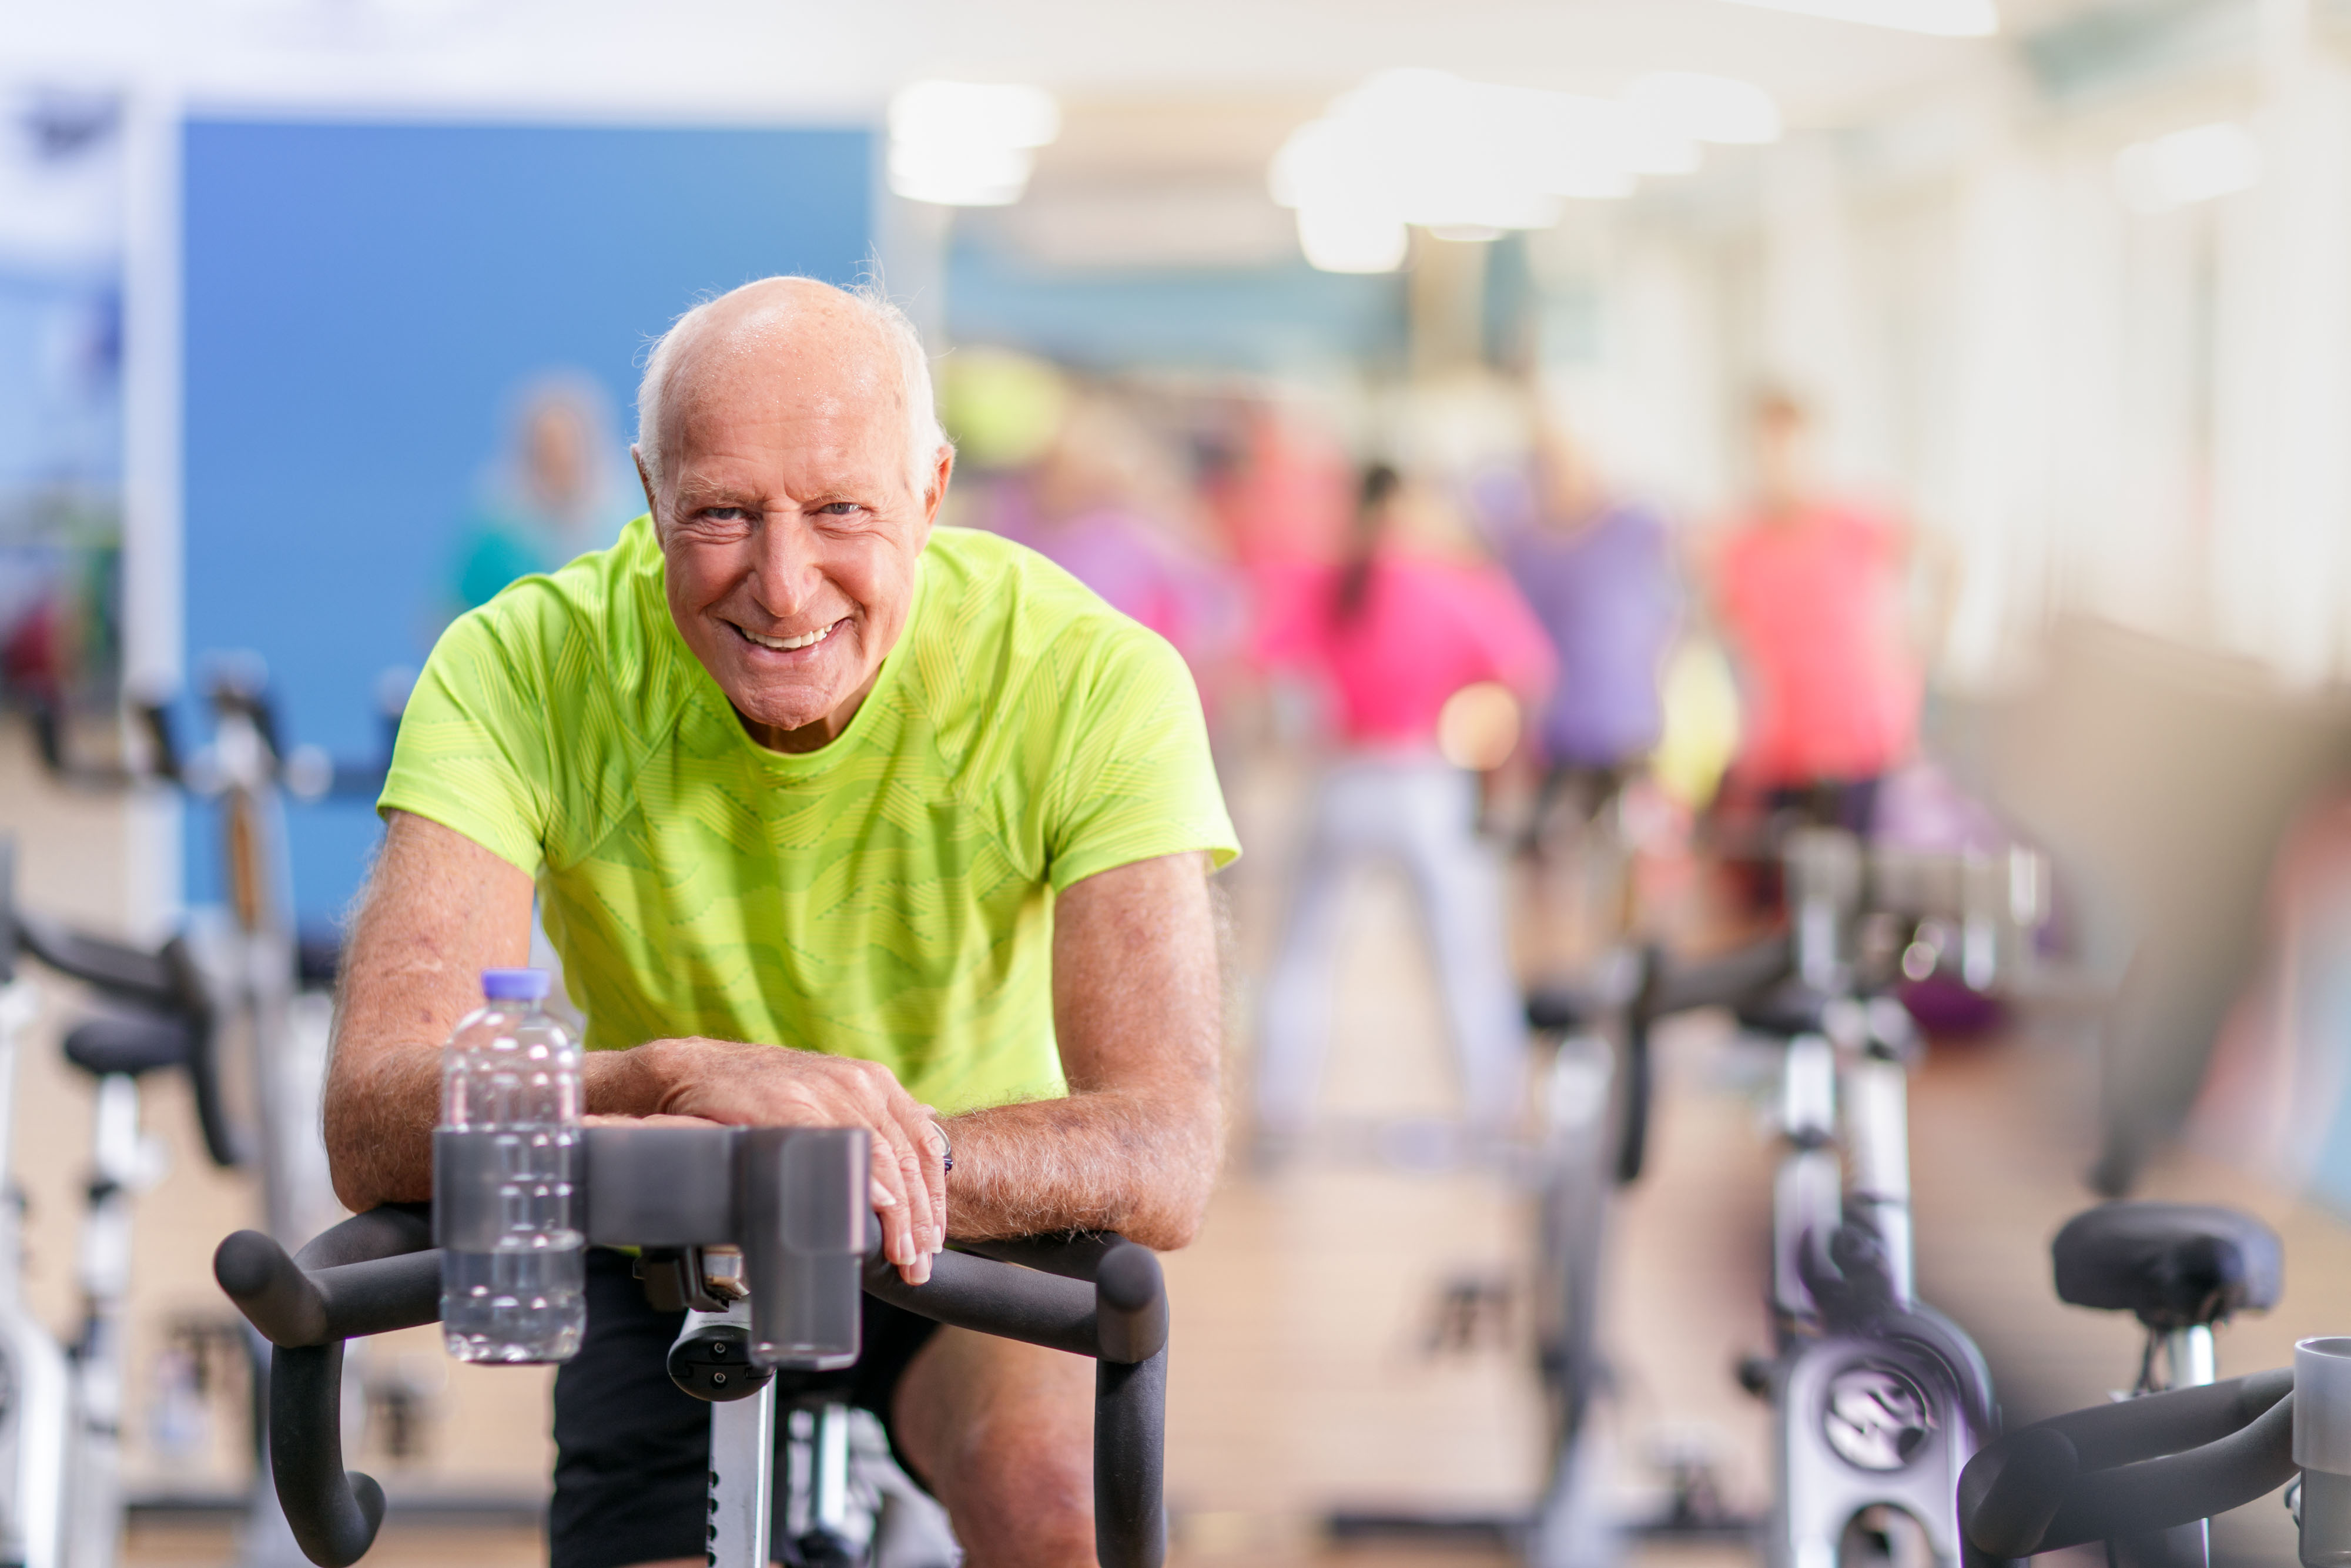
[[[1168,1103],[1074,1093],[955,1117],[950,1237],[1114,1229],[1159,1251],[1187,1246],[1223,1161],[1213,1098]]]

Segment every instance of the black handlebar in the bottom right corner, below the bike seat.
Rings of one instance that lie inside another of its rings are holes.
[[[2224,1514],[2292,1479],[2292,1392],[2278,1368],[2010,1432],[1968,1460],[1961,1528],[1980,1552],[2024,1559]]]

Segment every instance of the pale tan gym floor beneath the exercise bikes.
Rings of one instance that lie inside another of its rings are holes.
[[[19,835],[28,900],[94,924],[118,922],[122,806],[54,792],[14,731],[0,733],[0,830]],[[1279,844],[1291,837],[1298,799],[1295,773],[1274,766],[1253,769],[1234,790],[1253,846],[1230,875],[1241,969],[1234,1034],[1244,1051],[1248,978],[1262,973],[1279,919]],[[1326,1544],[1321,1521],[1347,1507],[1512,1512],[1540,1481],[1540,1403],[1523,1371],[1526,1204],[1486,1173],[1441,1168],[1429,1140],[1408,1135],[1408,1119],[1444,1114],[1451,1067],[1413,914],[1401,886],[1382,877],[1366,877],[1357,900],[1340,999],[1340,1044],[1326,1077],[1331,1147],[1258,1173],[1237,1143],[1201,1241],[1168,1260],[1178,1302],[1168,1502],[1180,1563],[1500,1563],[1500,1552],[1472,1542],[1340,1549]],[[1620,1206],[1608,1281],[1617,1389],[1603,1420],[1615,1434],[1613,1483],[1620,1509],[1636,1516],[1662,1500],[1657,1460],[1695,1455],[1733,1509],[1759,1509],[1768,1481],[1763,1408],[1737,1389],[1730,1368],[1763,1345],[1756,1302],[1770,1143],[1759,1093],[1770,1063],[1737,1046],[1726,1027],[1688,1020],[1660,1041],[1660,1065],[1650,1171]],[[31,1291],[63,1324],[87,1091],[45,1051],[28,1053],[24,1079],[16,1126],[33,1227]],[[2090,1201],[2078,1182],[2090,1157],[2090,1095],[2081,1020],[1937,1048],[1914,1086],[1921,1291],[1984,1345],[2010,1420],[2090,1403],[2135,1371],[2132,1326],[2062,1307],[2048,1284],[2048,1237]],[[150,1406],[169,1326],[221,1319],[207,1255],[221,1234],[252,1222],[254,1199],[197,1164],[186,1124],[176,1088],[160,1086],[148,1126],[172,1147],[174,1166],[139,1206],[127,1425],[134,1486],[202,1500],[242,1483],[242,1394],[230,1387],[240,1380],[214,1378],[200,1403],[205,1441],[190,1443],[186,1432],[165,1441],[167,1422]],[[1375,1135],[1382,1126],[1385,1138]],[[2285,1302],[2224,1335],[2224,1375],[2276,1366],[2295,1338],[2342,1328],[2323,1316],[2323,1305],[2342,1300],[2337,1291],[2351,1284],[2351,1229],[2339,1220],[2196,1157],[2161,1166],[2146,1194],[2241,1204],[2285,1234]],[[383,1450],[376,1422],[357,1462],[395,1500],[437,1507],[395,1507],[369,1561],[538,1561],[527,1516],[451,1505],[510,1509],[543,1486],[545,1378],[449,1368],[430,1331],[379,1347],[371,1368],[379,1382],[430,1389],[433,1415],[409,1458]],[[134,1521],[127,1563],[221,1563],[228,1537],[226,1514],[148,1512]],[[2283,1566],[2292,1554],[2276,1497],[2219,1523],[2219,1561]],[[1636,1549],[1643,1563],[1747,1556],[1737,1544],[1672,1540]]]

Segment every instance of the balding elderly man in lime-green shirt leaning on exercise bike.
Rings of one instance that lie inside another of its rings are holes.
[[[524,961],[536,891],[592,1114],[870,1128],[910,1281],[947,1237],[1192,1239],[1206,875],[1239,853],[1199,698],[1039,555],[933,529],[952,465],[879,299],[771,277],[670,329],[651,515],[463,616],[409,703],[327,1084],[346,1204],[428,1194],[440,1046],[480,971]],[[663,1375],[670,1333],[592,1253],[557,1568],[701,1561],[705,1406]],[[856,1399],[973,1568],[1093,1563],[1091,1387],[868,1298]]]

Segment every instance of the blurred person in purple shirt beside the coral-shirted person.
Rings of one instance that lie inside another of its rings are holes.
[[[1681,621],[1665,520],[1615,498],[1554,423],[1523,470],[1474,487],[1495,552],[1559,649],[1559,684],[1535,738],[1547,762],[1531,835],[1570,802],[1589,820],[1665,731],[1660,677]]]

